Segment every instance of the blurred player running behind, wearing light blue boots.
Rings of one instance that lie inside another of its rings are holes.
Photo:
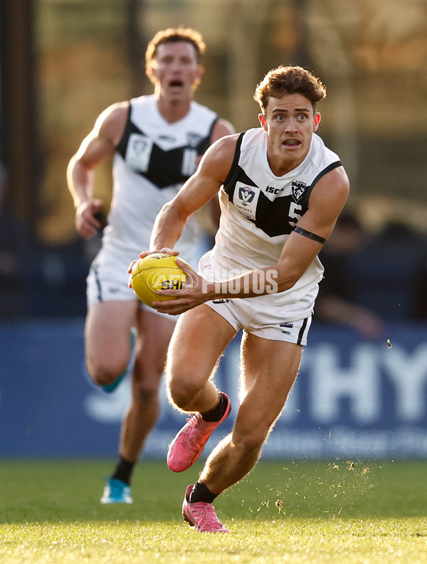
[[[93,196],[93,170],[113,161],[110,213],[87,280],[85,359],[91,378],[107,392],[115,390],[127,370],[133,371],[120,457],[102,504],[132,503],[132,471],[157,421],[159,384],[176,321],[137,299],[127,285],[127,267],[142,248],[149,248],[157,213],[194,173],[204,151],[234,132],[231,124],[193,100],[203,74],[204,50],[200,33],[190,28],[159,31],[146,52],[146,73],[154,94],[108,107],[68,165],[75,227],[90,239],[102,228],[104,207]],[[189,222],[180,240],[189,262],[196,260],[197,245],[196,224]],[[132,340],[134,366],[130,366]]]

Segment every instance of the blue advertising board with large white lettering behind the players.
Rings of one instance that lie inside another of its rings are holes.
[[[0,325],[0,456],[116,454],[130,383],[112,394],[90,383],[83,330],[80,318]],[[234,408],[211,444],[231,430],[238,410],[239,341],[238,335],[216,373]],[[426,384],[427,324],[391,324],[386,338],[373,343],[314,323],[263,457],[427,457]],[[164,387],[161,403],[144,457],[164,457],[185,422]]]

